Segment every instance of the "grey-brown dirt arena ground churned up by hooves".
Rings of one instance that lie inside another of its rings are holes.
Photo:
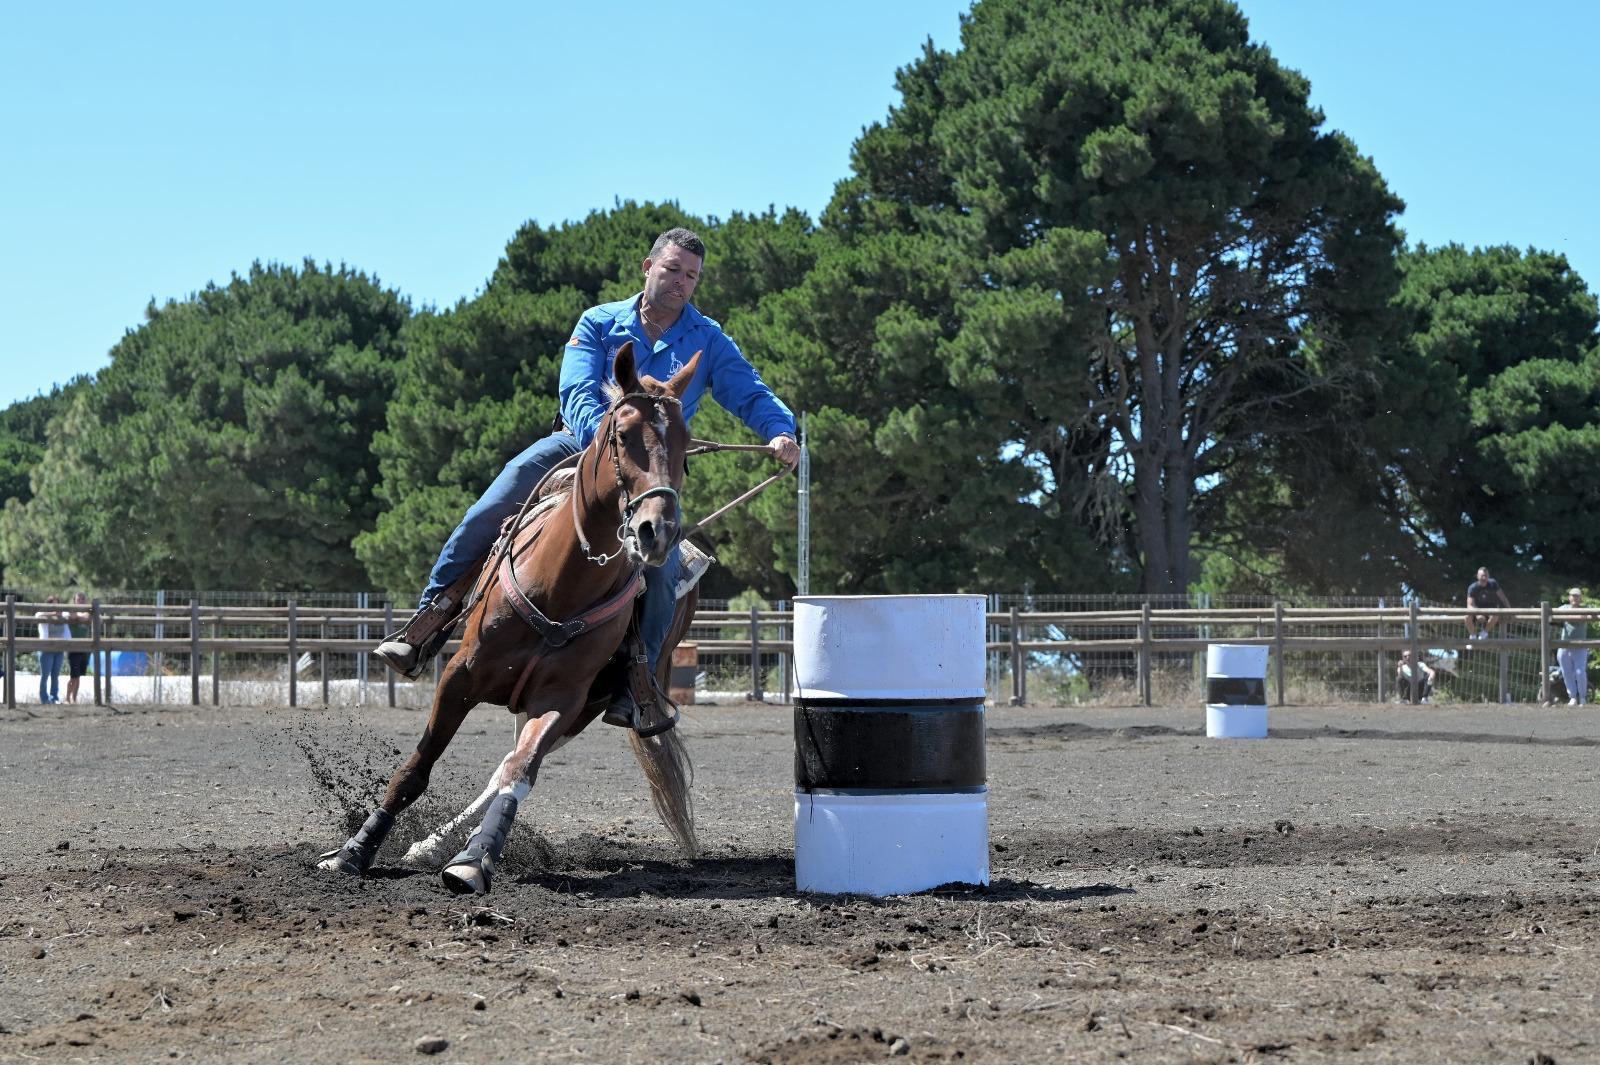
[[[994,883],[882,900],[794,891],[786,707],[686,716],[693,864],[597,726],[493,895],[400,868],[413,820],[314,872],[421,724],[0,712],[0,1060],[1600,1060],[1587,708],[995,708]]]

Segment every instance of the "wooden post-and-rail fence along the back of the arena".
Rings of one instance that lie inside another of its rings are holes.
[[[88,609],[77,608],[77,612],[88,614],[88,635],[72,640],[43,640],[40,636],[19,635],[19,625],[37,625],[35,612],[61,611],[75,608],[61,603],[19,603],[14,595],[5,600],[5,705],[16,707],[16,656],[38,651],[88,651],[96,664],[93,670],[93,697],[96,705],[112,700],[110,654],[114,651],[142,651],[147,654],[163,654],[187,657],[189,664],[189,702],[202,704],[202,664],[210,656],[210,702],[219,705],[219,678],[222,654],[282,654],[288,664],[288,702],[299,705],[301,683],[298,664],[301,656],[312,654],[320,659],[320,696],[328,702],[328,654],[365,654],[378,635],[394,632],[395,617],[392,606],[378,609],[368,608],[299,608],[293,600],[286,606],[200,606],[190,600],[187,609],[173,604],[104,604],[99,600],[86,604]],[[1538,625],[1538,636],[1496,638],[1488,644],[1469,641],[1466,638],[1466,616],[1494,616],[1504,622],[1528,622]],[[1010,702],[1022,705],[1027,702],[1029,657],[1032,654],[1120,654],[1125,656],[1138,684],[1138,697],[1144,705],[1152,704],[1152,662],[1163,652],[1203,652],[1211,643],[1246,643],[1266,644],[1272,648],[1274,689],[1277,705],[1285,699],[1285,659],[1288,652],[1325,652],[1325,651],[1357,651],[1378,654],[1410,649],[1413,660],[1421,659],[1424,649],[1467,649],[1482,648],[1501,652],[1501,696],[1509,697],[1506,680],[1506,654],[1510,651],[1538,651],[1539,662],[1547,664],[1557,648],[1600,648],[1600,640],[1560,641],[1554,636],[1558,622],[1565,620],[1600,620],[1600,611],[1560,611],[1552,612],[1549,603],[1538,608],[1488,609],[1488,608],[1437,608],[1418,606],[1416,603],[1400,608],[1293,608],[1282,603],[1272,608],[1235,608],[1235,609],[1152,609],[1149,604],[1139,609],[1112,611],[1066,611],[1066,612],[1024,612],[1013,608],[1008,612],[987,614],[990,640],[987,649],[1010,662]],[[749,656],[750,688],[749,696],[755,700],[763,697],[762,665],[763,656],[781,654],[787,659],[794,644],[787,640],[792,632],[794,614],[790,611],[699,611],[694,617],[696,630],[715,628],[715,638],[696,638],[702,657],[715,656]],[[1450,624],[1461,627],[1461,636],[1422,636],[1422,625]],[[150,635],[110,635],[112,627],[149,628]],[[1318,628],[1371,625],[1378,635],[1318,635]],[[224,635],[224,630],[251,627],[277,630],[274,635]],[[1048,627],[1059,632],[1062,638],[1029,640],[1030,628]],[[1386,633],[1386,628],[1394,628]],[[1091,635],[1074,638],[1074,630],[1083,628],[1125,628],[1130,636],[1104,638]],[[1254,630],[1245,635],[1197,635],[1202,630],[1227,628],[1230,632]],[[181,635],[170,635],[178,630]],[[733,632],[730,638],[726,633]],[[763,635],[763,630],[776,632],[778,638]],[[1174,633],[1174,630],[1178,630]],[[344,633],[344,635],[330,635]],[[363,633],[365,635],[360,635]],[[160,635],[155,635],[160,633]],[[278,635],[280,633],[280,635]],[[438,664],[458,644],[450,644]],[[1382,697],[1382,676],[1386,665],[1379,662],[1379,697]],[[384,668],[389,705],[395,705],[395,675]],[[179,675],[181,676],[181,675]],[[787,670],[784,670],[787,678]],[[1541,667],[1541,700],[1549,697],[1549,676]],[[784,683],[787,694],[787,681]],[[1418,697],[1413,684],[1411,699]]]

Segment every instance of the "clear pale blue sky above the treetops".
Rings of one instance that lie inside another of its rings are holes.
[[[1246,0],[1429,243],[1600,281],[1600,6]],[[253,259],[414,304],[526,219],[616,198],[816,213],[968,3],[19,5],[0,37],[0,405],[106,365],[150,299]],[[664,21],[670,11],[670,21]],[[1586,74],[1587,72],[1587,74]]]

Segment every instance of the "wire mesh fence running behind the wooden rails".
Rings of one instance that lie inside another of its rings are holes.
[[[14,617],[14,636],[24,641],[38,636],[34,611],[51,590],[6,592],[27,608]],[[421,678],[405,681],[370,656],[370,648],[398,624],[397,619],[410,614],[410,604],[390,604],[376,592],[109,590],[91,598],[99,601],[101,635],[110,651],[94,656],[90,683],[98,681],[106,689],[107,702],[424,707],[432,702],[443,662],[442,656]],[[291,604],[296,624],[286,633],[285,616]],[[1285,700],[1392,700],[1408,694],[1402,691],[1395,667],[1397,648],[1411,640],[1410,619],[1394,608],[1410,604],[1405,596],[995,593],[989,596],[987,683],[990,697],[1002,702],[1021,689],[1026,700],[1035,704],[1133,704],[1144,699],[1142,678],[1147,676],[1152,702],[1198,704],[1205,691],[1205,644],[1283,636],[1288,646],[1280,644],[1278,657]],[[1430,616],[1443,604],[1418,601],[1416,606],[1416,641],[1422,660],[1435,673],[1437,699],[1523,702],[1539,697],[1549,662],[1541,662],[1536,617],[1506,616],[1485,638],[1467,640],[1459,611],[1458,616]],[[1286,616],[1280,608],[1296,614]],[[61,609],[78,608],[61,604]],[[702,702],[790,700],[789,611],[790,603],[782,600],[744,601],[738,609],[728,601],[701,600],[685,638],[693,648],[686,668],[694,678],[694,697]],[[1229,611],[1240,616],[1229,617]],[[1314,616],[1307,617],[1306,611]],[[1374,611],[1386,611],[1386,616],[1378,617]],[[1150,627],[1149,665],[1141,670],[1136,644],[1144,624]],[[74,635],[83,635],[82,624]],[[1299,640],[1302,636],[1314,640]],[[141,649],[141,643],[147,646]],[[186,651],[182,643],[195,646]],[[1107,643],[1118,646],[1107,648]],[[1323,649],[1320,644],[1331,646]],[[35,652],[16,656],[10,688],[18,699],[32,700],[37,672]],[[78,697],[88,700],[82,684]]]

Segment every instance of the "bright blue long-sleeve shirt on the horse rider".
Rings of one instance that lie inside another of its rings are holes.
[[[638,296],[614,304],[600,304],[584,312],[566,342],[562,358],[562,421],[587,448],[611,401],[603,384],[611,379],[611,361],[624,341],[634,342],[634,360],[640,376],[666,381],[688,365],[694,352],[701,355],[694,381],[683,393],[683,421],[694,417],[701,397],[709,390],[726,411],[749,425],[763,441],[795,432],[795,416],[762,381],[762,374],[739,352],[739,345],[722,326],[702,315],[693,304],[654,344],[645,336],[638,317]]]

